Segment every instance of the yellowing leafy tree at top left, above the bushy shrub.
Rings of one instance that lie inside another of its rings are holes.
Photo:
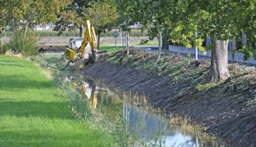
[[[10,0],[7,2],[8,24],[18,31],[24,30],[26,37],[28,28],[32,28],[34,24],[55,22],[56,14],[69,3],[68,0]]]

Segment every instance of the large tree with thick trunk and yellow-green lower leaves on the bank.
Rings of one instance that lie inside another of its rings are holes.
[[[172,9],[170,21],[173,31],[171,38],[173,42],[182,43],[186,47],[202,47],[203,38],[207,34],[213,42],[211,47],[211,67],[209,78],[215,82],[230,78],[228,70],[228,40],[234,38],[240,31],[236,18],[236,1],[179,1],[170,5]],[[180,10],[180,11],[178,11]],[[195,41],[194,32],[199,36]]]

